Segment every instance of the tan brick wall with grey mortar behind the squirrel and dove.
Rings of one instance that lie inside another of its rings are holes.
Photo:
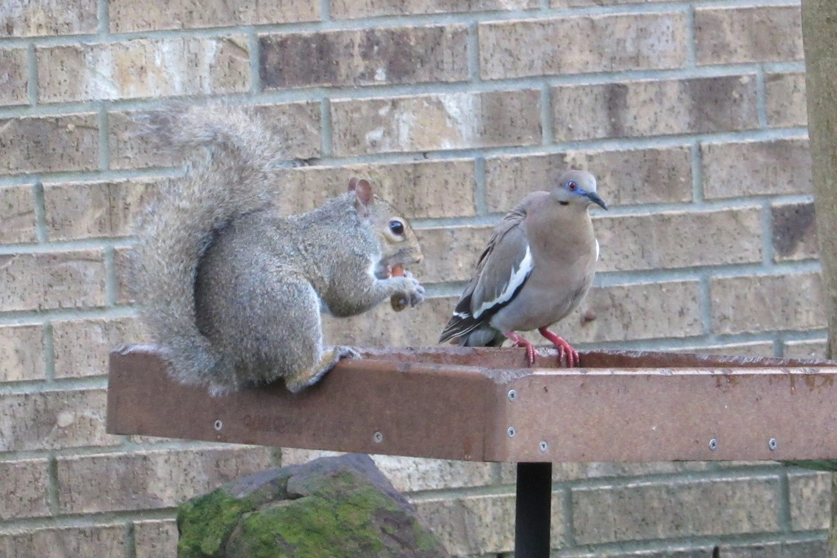
[[[379,177],[432,298],[328,323],[434,344],[492,223],[567,166],[601,273],[578,346],[823,356],[793,0],[7,0],[0,5],[0,555],[171,556],[173,506],[311,452],[105,434],[106,355],[142,340],[131,221],[175,161],[161,100],[292,123],[289,212]],[[509,555],[509,465],[377,458],[454,555]],[[559,556],[824,556],[827,478],[772,463],[557,465]]]

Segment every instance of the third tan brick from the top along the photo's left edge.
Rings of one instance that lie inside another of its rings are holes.
[[[96,115],[0,120],[0,173],[92,171],[99,166]]]

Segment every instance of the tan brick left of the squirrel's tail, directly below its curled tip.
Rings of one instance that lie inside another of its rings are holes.
[[[151,197],[155,179],[44,184],[47,236],[50,240],[123,237]]]

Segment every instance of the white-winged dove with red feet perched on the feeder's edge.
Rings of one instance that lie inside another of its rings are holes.
[[[551,192],[532,192],[494,229],[439,342],[501,346],[506,338],[535,347],[516,331],[538,330],[552,341],[559,360],[578,363],[578,352],[547,328],[578,306],[593,284],[598,241],[591,204],[607,209],[589,172],[567,171]]]

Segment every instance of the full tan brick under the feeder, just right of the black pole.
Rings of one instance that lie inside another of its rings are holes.
[[[707,479],[573,489],[579,544],[779,529],[778,479]]]

